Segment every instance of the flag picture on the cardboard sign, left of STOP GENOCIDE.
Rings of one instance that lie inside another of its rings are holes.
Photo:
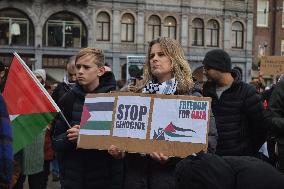
[[[86,97],[80,134],[110,135],[114,97]]]

